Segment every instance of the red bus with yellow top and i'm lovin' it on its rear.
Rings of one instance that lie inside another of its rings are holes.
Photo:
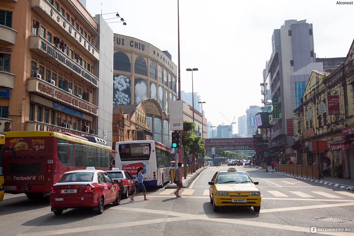
[[[94,166],[108,171],[112,148],[70,133],[46,131],[4,132],[6,144],[16,149],[3,150],[5,193],[24,193],[29,199],[50,192],[64,172]]]

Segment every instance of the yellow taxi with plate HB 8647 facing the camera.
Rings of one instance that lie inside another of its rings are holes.
[[[229,168],[227,171],[217,171],[209,182],[210,203],[213,210],[219,211],[221,206],[248,206],[253,211],[261,209],[261,192],[258,182],[253,182],[244,171]]]

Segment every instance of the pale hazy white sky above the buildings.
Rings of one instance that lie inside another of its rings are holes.
[[[86,0],[91,15],[118,12],[127,25],[111,23],[114,33],[169,51],[178,65],[177,0]],[[313,24],[318,58],[346,57],[354,39],[354,5],[335,0],[181,0],[179,42],[181,90],[201,96],[207,121],[214,126],[238,117],[252,105],[262,106],[265,62],[272,53],[272,34],[285,20]],[[115,14],[103,15],[105,19]],[[118,19],[119,20],[119,19]],[[111,22],[113,20],[107,20]]]

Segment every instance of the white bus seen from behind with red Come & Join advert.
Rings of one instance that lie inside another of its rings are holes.
[[[142,166],[144,185],[162,186],[169,182],[171,168],[170,149],[152,140],[138,140],[115,143],[115,167],[128,171],[133,178]]]

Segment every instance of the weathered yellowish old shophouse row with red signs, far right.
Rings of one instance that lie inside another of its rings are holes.
[[[333,175],[333,165],[341,163],[344,178],[350,179],[354,179],[353,53],[354,41],[344,63],[331,74],[312,71],[301,105],[294,110],[293,145],[298,165],[327,160]]]

